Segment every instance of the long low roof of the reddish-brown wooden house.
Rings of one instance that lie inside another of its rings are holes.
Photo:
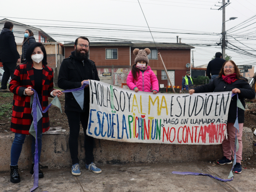
[[[65,47],[73,46],[75,42],[64,44]],[[187,44],[171,44],[171,43],[157,43],[158,49],[194,49]],[[131,46],[132,48],[155,48],[154,43],[131,43],[131,42],[90,42],[90,47],[100,47],[100,46]]]

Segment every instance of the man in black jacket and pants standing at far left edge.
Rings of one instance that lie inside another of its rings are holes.
[[[0,33],[0,58],[3,63],[3,77],[1,92],[10,92],[7,88],[7,82],[13,76],[17,63],[20,63],[20,54],[17,51],[17,45],[13,35],[12,22],[6,21],[3,30]]]

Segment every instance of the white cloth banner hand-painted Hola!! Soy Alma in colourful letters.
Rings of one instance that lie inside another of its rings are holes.
[[[221,144],[231,92],[135,93],[90,80],[87,135],[133,143]]]

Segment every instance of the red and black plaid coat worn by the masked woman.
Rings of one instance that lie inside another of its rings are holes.
[[[47,65],[43,65],[42,79],[42,109],[48,106],[48,97],[53,89],[53,70]],[[33,64],[21,64],[15,69],[14,76],[10,82],[9,90],[14,93],[12,107],[11,131],[20,134],[29,134],[32,123],[30,108],[30,96],[23,95],[27,87],[34,87]],[[43,113],[43,133],[49,129],[48,111]]]

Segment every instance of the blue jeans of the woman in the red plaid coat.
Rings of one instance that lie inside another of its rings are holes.
[[[38,121],[38,124],[39,122],[41,122],[42,124],[42,119]],[[33,136],[31,137],[32,137],[31,152],[32,152],[33,163],[34,163],[35,137]],[[11,148],[11,166],[16,166],[18,164],[18,160],[20,158],[20,153],[22,150],[22,145],[24,143],[25,138],[26,138],[26,134],[15,133],[15,137],[14,137],[12,148]],[[38,128],[38,162],[40,162],[41,149],[42,149],[42,128]]]

